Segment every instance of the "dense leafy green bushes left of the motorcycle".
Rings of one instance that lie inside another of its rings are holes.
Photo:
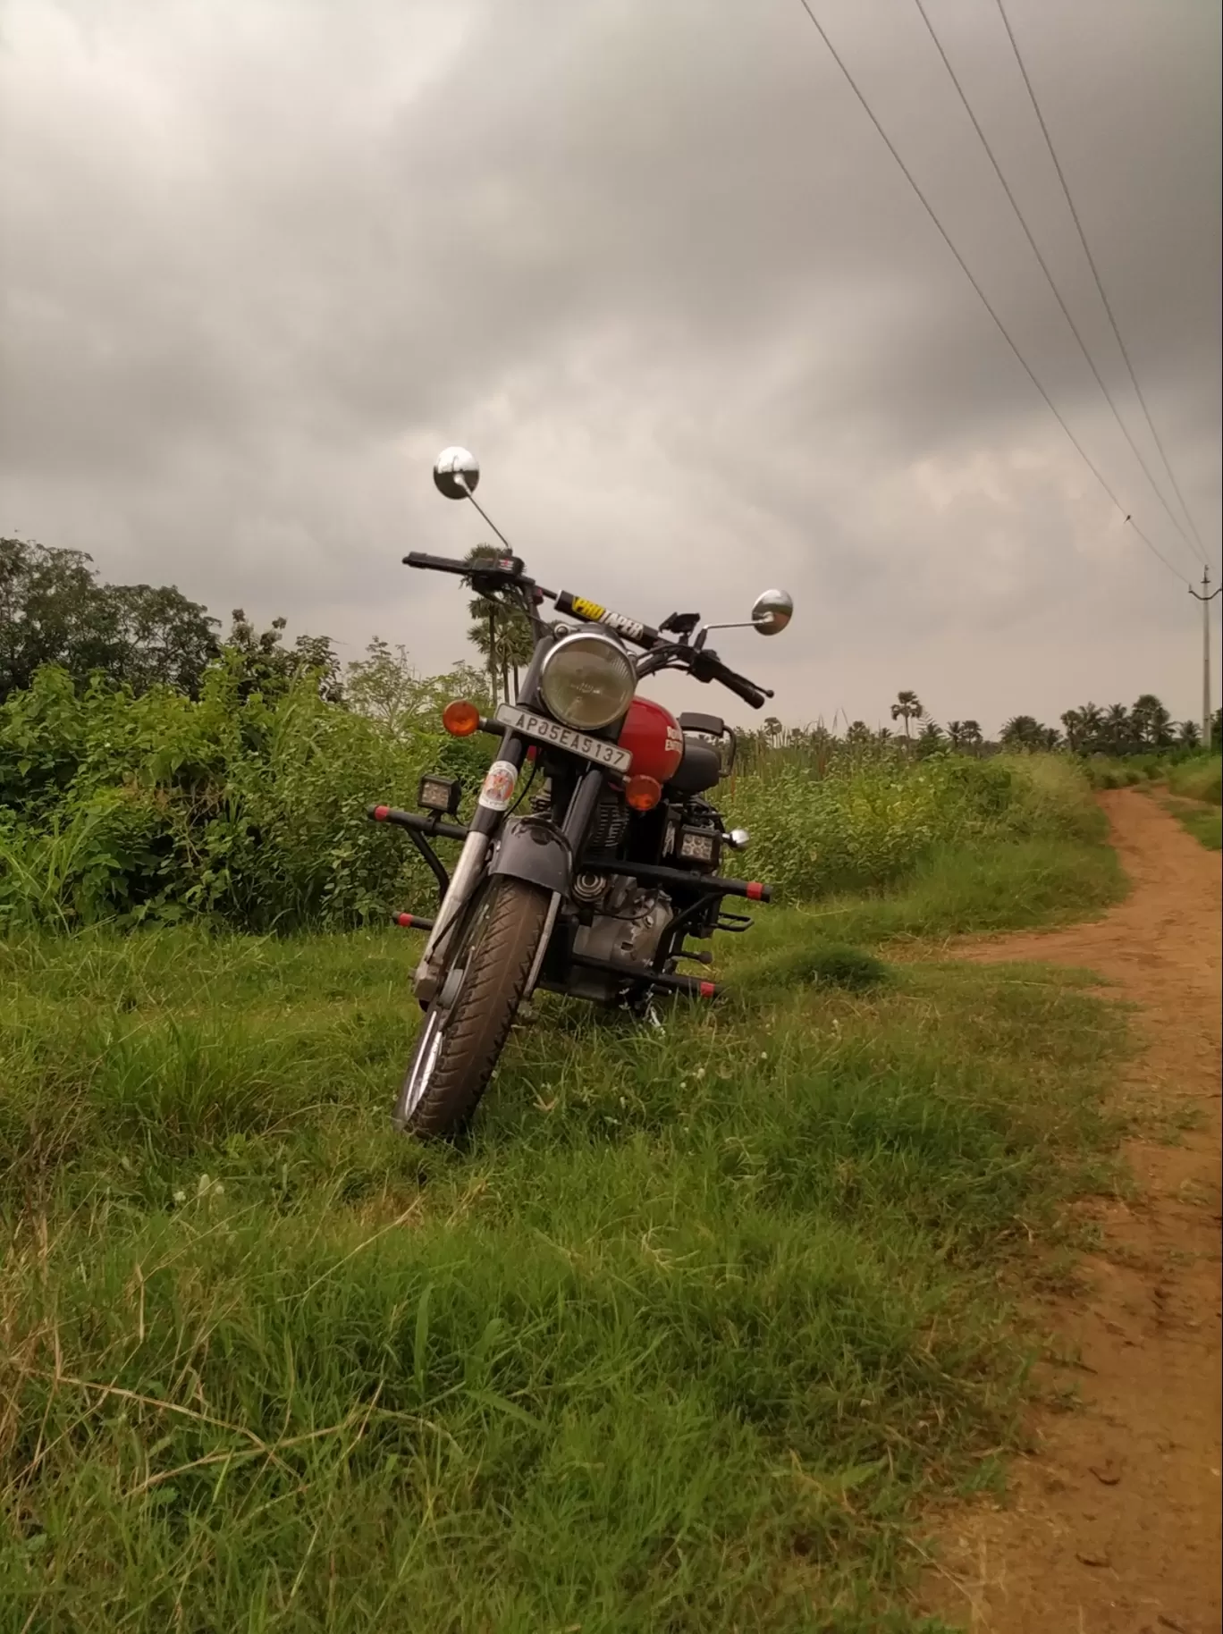
[[[268,704],[213,670],[198,703],[56,668],[0,708],[0,923],[213,917],[244,930],[353,925],[420,907],[433,881],[365,815],[487,742],[392,735],[309,681]]]

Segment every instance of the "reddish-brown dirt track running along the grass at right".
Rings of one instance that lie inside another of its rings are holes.
[[[1095,971],[1138,1007],[1115,1090],[1138,1127],[1127,1201],[1092,1209],[1099,1252],[1050,1335],[1043,1405],[1002,1502],[937,1528],[922,1609],[973,1634],[1218,1634],[1220,858],[1153,799],[1100,797],[1133,889],[1095,925],[960,949]],[[1187,1127],[1185,1127],[1187,1126]],[[1056,1410],[1074,1387],[1077,1405]]]

